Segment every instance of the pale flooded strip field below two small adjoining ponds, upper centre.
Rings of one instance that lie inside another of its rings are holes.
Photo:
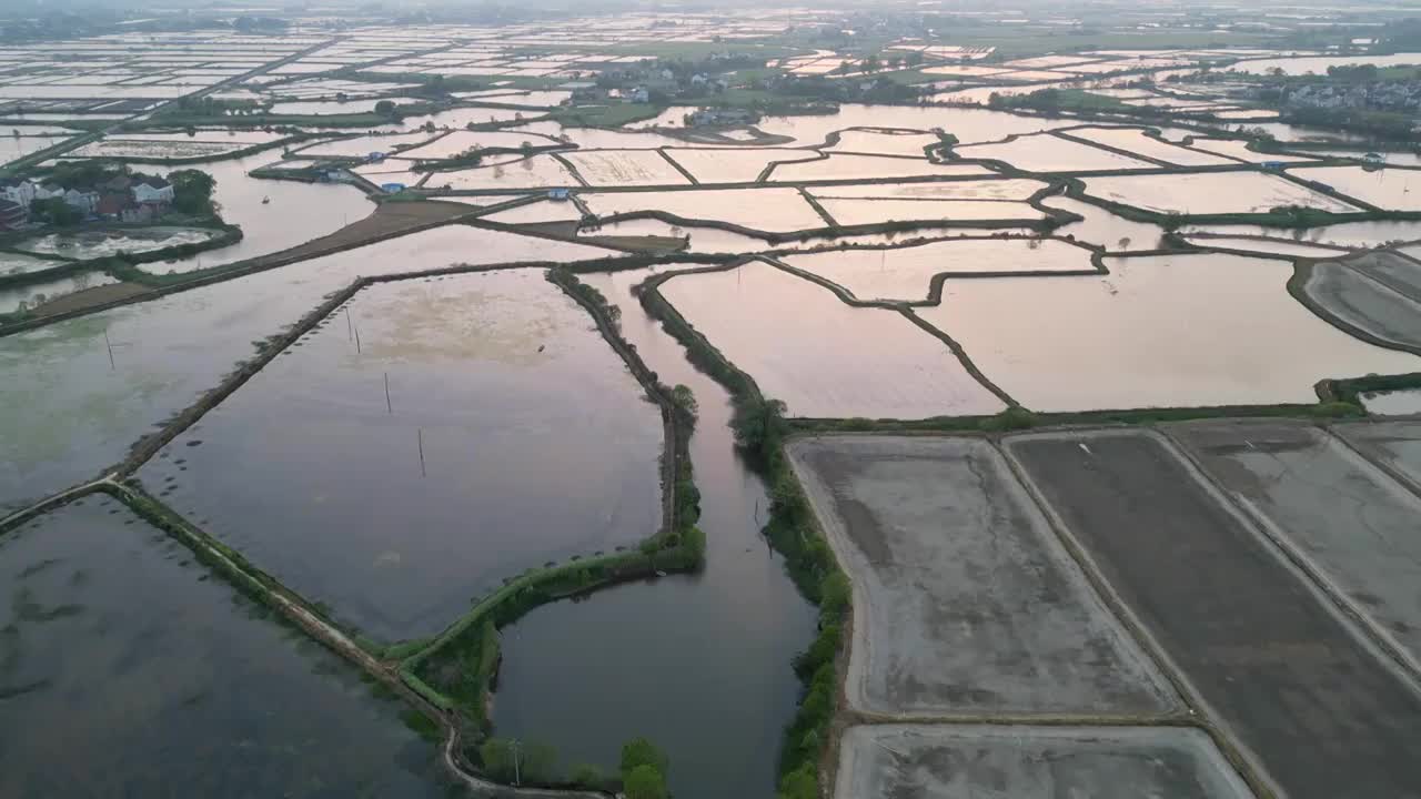
[[[796,189],[695,189],[681,192],[583,192],[598,216],[661,210],[684,219],[725,222],[750,230],[789,233],[817,230],[828,222]]]

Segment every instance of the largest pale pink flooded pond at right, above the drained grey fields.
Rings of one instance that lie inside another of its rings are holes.
[[[1310,314],[1286,291],[1285,262],[1188,254],[1106,267],[949,281],[939,307],[914,313],[1037,411],[1314,402],[1324,377],[1421,368]]]

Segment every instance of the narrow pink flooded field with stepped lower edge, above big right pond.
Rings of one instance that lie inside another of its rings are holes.
[[[1054,239],[946,240],[895,249],[783,256],[860,300],[926,300],[934,274],[1094,272],[1090,250]]]

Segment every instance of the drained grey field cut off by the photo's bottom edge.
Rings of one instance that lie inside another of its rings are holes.
[[[1208,734],[1148,726],[851,726],[836,799],[1252,799]]]

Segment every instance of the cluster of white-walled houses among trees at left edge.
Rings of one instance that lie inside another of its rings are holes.
[[[115,175],[92,186],[68,188],[28,178],[0,179],[0,230],[33,222],[36,202],[60,199],[84,219],[148,223],[168,212],[173,186],[152,175]]]

